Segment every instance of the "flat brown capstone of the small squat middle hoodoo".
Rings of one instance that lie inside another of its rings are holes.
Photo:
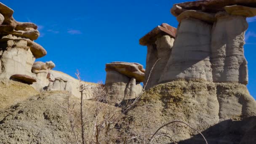
[[[116,71],[127,77],[134,77],[137,82],[143,82],[144,72],[143,66],[138,63],[128,63],[128,62],[112,62],[106,64],[106,71]]]

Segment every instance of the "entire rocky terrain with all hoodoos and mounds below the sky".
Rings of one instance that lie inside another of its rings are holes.
[[[255,10],[255,0],[175,4],[178,28],[163,23],[139,40],[146,69],[112,62],[95,84],[35,62],[47,54],[37,26],[0,3],[0,143],[255,144],[243,48]]]

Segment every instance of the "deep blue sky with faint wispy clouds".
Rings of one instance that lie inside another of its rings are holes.
[[[112,61],[146,65],[147,47],[139,39],[165,22],[178,23],[171,15],[174,3],[187,0],[1,0],[12,8],[17,21],[38,25],[36,40],[48,52],[37,61],[53,61],[55,70],[83,80],[105,81],[105,64]],[[249,19],[245,57],[248,89],[256,98],[256,19]]]

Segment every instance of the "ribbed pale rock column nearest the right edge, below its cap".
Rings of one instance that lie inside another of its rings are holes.
[[[213,82],[248,83],[247,61],[244,56],[244,35],[248,23],[243,16],[217,13],[212,33]]]

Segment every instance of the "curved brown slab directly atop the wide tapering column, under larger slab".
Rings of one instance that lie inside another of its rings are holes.
[[[214,17],[213,14],[204,13],[204,12],[195,11],[195,10],[184,11],[177,17],[177,21],[179,21],[180,23],[183,19],[187,19],[187,18],[199,19],[201,21],[205,21],[208,23],[214,23],[214,21],[216,21],[216,18]]]

